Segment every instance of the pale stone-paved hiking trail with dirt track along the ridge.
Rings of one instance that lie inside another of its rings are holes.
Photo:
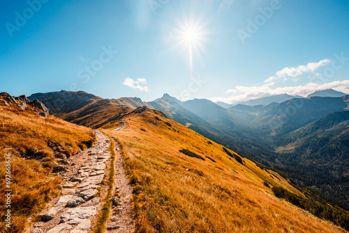
[[[112,198],[104,200],[109,184],[112,156],[108,151],[110,139],[96,132],[96,143],[87,150],[69,158],[66,171],[59,176],[66,181],[61,194],[47,204],[40,213],[40,222],[34,223],[25,233],[82,233],[93,232],[105,202],[112,202],[104,232],[133,232],[132,187],[124,168],[121,149],[114,141],[114,183]],[[115,197],[116,196],[116,197]]]

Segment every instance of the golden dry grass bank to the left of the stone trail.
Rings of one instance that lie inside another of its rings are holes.
[[[0,196],[0,232],[22,232],[29,217],[36,217],[57,195],[59,178],[51,174],[54,153],[74,155],[94,143],[91,129],[54,116],[36,115],[0,105],[0,176],[5,189],[5,155],[11,155],[12,224],[5,226],[5,196]],[[4,194],[4,192],[2,192]]]

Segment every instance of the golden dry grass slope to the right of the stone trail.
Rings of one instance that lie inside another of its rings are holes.
[[[105,132],[122,146],[136,232],[346,232],[274,197],[264,183],[302,195],[276,172],[245,158],[240,164],[221,145],[156,111],[124,121],[126,129]]]

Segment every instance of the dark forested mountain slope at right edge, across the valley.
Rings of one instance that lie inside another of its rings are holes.
[[[349,209],[349,111],[326,115],[281,136],[278,143],[288,174],[302,174],[298,181]]]

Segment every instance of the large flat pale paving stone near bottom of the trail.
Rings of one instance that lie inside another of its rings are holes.
[[[95,216],[97,209],[94,206],[89,207],[77,207],[66,210],[62,215],[61,219],[65,220],[69,224],[81,223],[84,219],[90,216]]]

